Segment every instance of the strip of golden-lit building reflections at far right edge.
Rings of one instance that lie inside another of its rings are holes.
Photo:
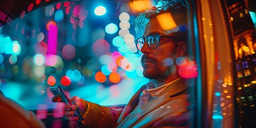
[[[255,15],[242,1],[227,1],[236,59],[236,90],[239,126],[251,127],[256,122],[256,33]]]

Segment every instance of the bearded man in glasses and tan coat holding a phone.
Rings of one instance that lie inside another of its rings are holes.
[[[178,26],[163,30],[156,16],[171,12]],[[104,107],[78,97],[75,105],[66,105],[65,112],[75,124],[74,110],[83,115],[81,127],[184,127],[187,115],[187,87],[175,67],[175,60],[186,55],[185,5],[177,1],[160,1],[135,20],[138,35],[135,43],[141,51],[143,75],[152,81],[143,85],[124,108]],[[141,32],[142,31],[142,32]],[[183,37],[182,37],[183,36]],[[172,63],[173,62],[173,63]],[[57,98],[52,99],[53,102]],[[75,124],[76,125],[76,124]]]

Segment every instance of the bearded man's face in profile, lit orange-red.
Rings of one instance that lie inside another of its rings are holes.
[[[166,35],[165,31],[159,26],[156,18],[150,19],[145,27],[143,36],[148,36],[149,34]],[[171,36],[171,34],[168,36]],[[150,49],[145,42],[141,48],[141,52],[143,53],[141,65],[143,67],[143,75],[146,78],[164,78],[175,70],[174,61],[177,58],[175,55],[177,50],[175,43],[177,42],[173,39],[161,37],[158,47],[156,49]]]

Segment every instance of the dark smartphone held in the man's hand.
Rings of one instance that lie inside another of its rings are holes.
[[[53,86],[50,87],[50,90],[54,96],[57,96],[57,98],[61,98],[62,102],[69,103],[69,105],[73,105],[73,103],[68,99],[67,95],[64,93],[61,86]],[[74,116],[78,116],[79,120],[83,120],[83,116],[79,113],[78,109],[76,109],[76,112]]]

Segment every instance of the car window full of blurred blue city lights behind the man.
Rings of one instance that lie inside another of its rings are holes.
[[[129,3],[65,2],[29,12],[33,5],[1,27],[6,97],[27,109],[54,108],[49,87],[61,85],[69,97],[120,105],[149,81],[134,44],[138,12]]]

